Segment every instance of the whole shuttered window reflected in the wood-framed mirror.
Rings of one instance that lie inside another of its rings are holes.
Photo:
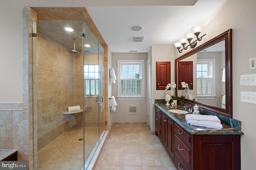
[[[198,59],[196,65],[196,89],[200,99],[215,98],[215,59]]]

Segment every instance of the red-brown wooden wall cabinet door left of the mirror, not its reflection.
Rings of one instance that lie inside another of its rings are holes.
[[[171,62],[156,61],[156,89],[165,90],[168,83],[171,83]]]

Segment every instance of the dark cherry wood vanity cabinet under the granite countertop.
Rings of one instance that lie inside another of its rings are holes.
[[[240,134],[190,133],[158,107],[156,117],[156,134],[178,170],[241,169]]]

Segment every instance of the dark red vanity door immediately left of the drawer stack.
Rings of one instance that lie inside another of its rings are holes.
[[[173,125],[174,125],[174,121],[170,118],[167,119],[166,121],[166,148],[168,153],[170,154],[170,156],[173,158]]]

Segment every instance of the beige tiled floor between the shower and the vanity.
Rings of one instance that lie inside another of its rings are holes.
[[[176,170],[147,125],[112,125],[96,170]]]

